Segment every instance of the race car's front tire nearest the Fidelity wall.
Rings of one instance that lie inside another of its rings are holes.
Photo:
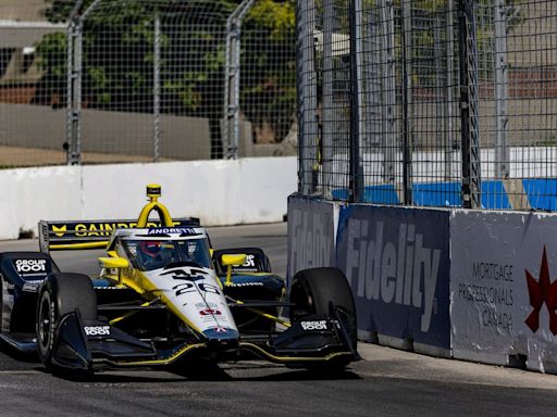
[[[358,341],[356,306],[345,275],[337,268],[311,268],[300,270],[290,287],[290,321],[298,321],[308,314],[331,315],[331,303],[337,307],[348,327],[348,337],[356,349]],[[338,364],[344,368],[349,361]]]

